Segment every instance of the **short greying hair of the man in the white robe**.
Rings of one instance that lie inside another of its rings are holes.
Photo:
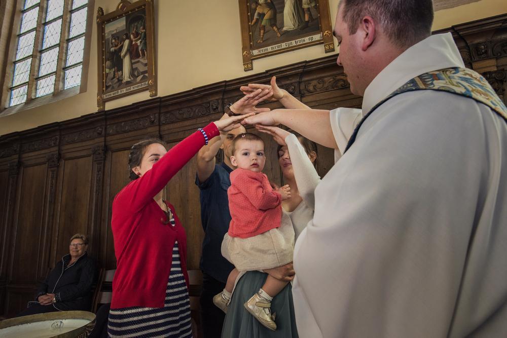
[[[339,6],[349,34],[355,34],[361,19],[369,15],[399,47],[410,47],[431,35],[432,0],[341,0]]]

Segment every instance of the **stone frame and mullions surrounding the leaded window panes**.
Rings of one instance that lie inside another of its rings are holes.
[[[9,1],[9,0],[8,0]],[[65,0],[63,2],[63,13],[51,20],[46,21],[46,15],[48,10],[48,1],[41,0],[39,4],[35,4],[27,9],[23,9],[25,0],[11,0],[14,3],[12,14],[13,19],[13,28],[10,32],[9,42],[8,42],[8,52],[6,54],[6,58],[3,65],[3,84],[2,91],[0,97],[0,117],[13,114],[14,112],[20,110],[31,109],[37,106],[41,106],[44,104],[48,104],[51,102],[55,102],[64,98],[68,98],[87,90],[88,83],[88,66],[90,61],[90,48],[91,48],[91,35],[92,35],[92,26],[93,26],[93,14],[95,8],[95,1],[88,0],[88,3],[82,6],[79,6],[75,9],[72,9],[73,1]],[[20,33],[21,30],[21,20],[23,13],[26,13],[29,10],[39,6],[37,26],[30,30],[27,30],[23,33]],[[86,27],[85,32],[80,33],[76,36],[70,37],[70,18],[71,14],[77,11],[82,10],[83,8],[87,8],[86,14]],[[6,13],[6,17],[7,17]],[[43,48],[43,39],[44,39],[44,29],[45,26],[51,22],[62,20],[61,33],[60,33],[60,41],[59,44],[49,46],[47,48]],[[15,60],[17,48],[18,48],[18,39],[20,36],[28,34],[29,32],[35,31],[35,38],[33,44],[33,51],[30,55],[20,58],[19,60]],[[84,37],[84,50],[83,50],[83,60],[78,63],[74,63],[72,65],[66,66],[66,55],[68,44],[71,41],[81,39]],[[40,64],[41,64],[41,56],[42,53],[47,52],[53,48],[59,48],[58,51],[58,62],[56,66],[56,71],[45,73],[44,75],[40,74]],[[12,86],[13,84],[13,76],[14,76],[14,66],[15,63],[19,63],[21,61],[26,61],[30,59],[30,71],[28,76],[28,82],[23,82],[22,84],[17,84],[16,86]],[[74,68],[81,64],[81,84],[79,86],[70,87],[65,89],[65,71],[69,68]],[[53,92],[47,95],[37,96],[37,84],[38,80],[45,79],[51,76],[55,76],[55,83]],[[11,102],[11,90],[17,89],[27,85],[27,94],[26,100],[24,103],[20,103],[17,105],[10,106]]]

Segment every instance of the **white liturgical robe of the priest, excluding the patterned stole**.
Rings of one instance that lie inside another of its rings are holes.
[[[378,74],[363,112],[448,67],[464,67],[452,35],[428,37]],[[339,144],[353,129],[340,121]],[[296,242],[299,335],[507,337],[506,177],[507,123],[486,105],[432,90],[382,104]]]

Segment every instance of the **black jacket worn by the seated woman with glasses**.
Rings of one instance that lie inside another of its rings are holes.
[[[46,280],[39,286],[37,297],[54,293],[56,303],[53,306],[60,311],[90,311],[91,287],[97,276],[95,260],[88,253],[78,258],[73,265],[67,266],[70,254],[66,254],[51,270]]]

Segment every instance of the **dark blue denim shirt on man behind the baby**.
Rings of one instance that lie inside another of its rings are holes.
[[[201,222],[204,230],[200,268],[216,280],[227,282],[234,266],[222,256],[221,246],[229,230],[231,214],[227,189],[231,186],[229,174],[233,169],[225,163],[216,164],[211,175],[204,182],[195,184],[200,190]]]

